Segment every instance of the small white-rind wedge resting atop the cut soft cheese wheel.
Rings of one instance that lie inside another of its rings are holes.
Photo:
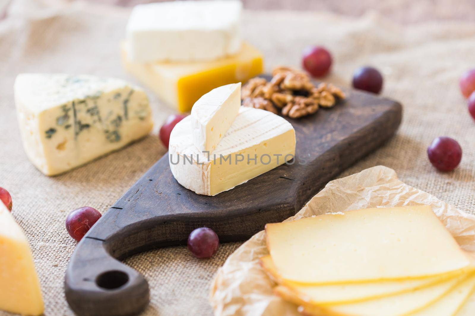
[[[211,153],[228,131],[241,107],[241,82],[218,87],[204,94],[191,108],[193,144]]]

